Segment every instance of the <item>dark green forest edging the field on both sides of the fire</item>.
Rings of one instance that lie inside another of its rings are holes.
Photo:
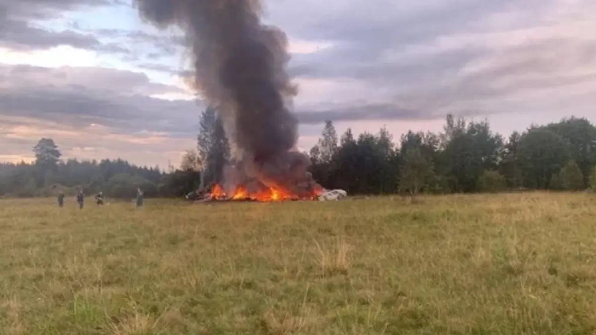
[[[100,162],[61,159],[52,139],[33,148],[32,163],[0,164],[0,196],[52,196],[104,191],[110,197],[183,196],[221,178],[229,143],[216,111],[201,115],[197,150],[189,150],[179,168],[140,167],[125,160]],[[394,141],[386,128],[355,137],[338,137],[325,122],[321,139],[308,153],[315,179],[349,194],[470,193],[505,190],[585,190],[596,187],[596,128],[570,117],[532,125],[507,138],[489,123],[448,115],[440,134],[412,132]]]

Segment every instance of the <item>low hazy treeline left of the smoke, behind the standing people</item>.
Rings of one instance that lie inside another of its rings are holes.
[[[55,196],[63,191],[76,194],[103,191],[108,197],[132,198],[137,187],[145,196],[182,196],[193,189],[194,171],[162,171],[159,167],[136,166],[122,159],[101,161],[61,160],[52,139],[43,138],[33,148],[35,162],[0,163],[0,196]]]

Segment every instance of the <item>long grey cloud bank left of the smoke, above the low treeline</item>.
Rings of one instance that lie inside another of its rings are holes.
[[[148,94],[178,92],[138,73],[62,67],[0,67],[0,115],[29,117],[74,127],[97,123],[125,134],[166,132],[194,137],[200,106]]]

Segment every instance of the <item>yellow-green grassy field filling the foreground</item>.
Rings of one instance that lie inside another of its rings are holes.
[[[596,195],[0,201],[0,334],[595,334]]]

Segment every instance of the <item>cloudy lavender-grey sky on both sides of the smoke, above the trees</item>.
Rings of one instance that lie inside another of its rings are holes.
[[[300,148],[339,132],[440,131],[446,113],[507,135],[565,116],[596,122],[594,0],[268,0],[290,39]],[[181,32],[130,0],[0,0],[0,161],[41,137],[64,156],[178,165],[196,101]]]

